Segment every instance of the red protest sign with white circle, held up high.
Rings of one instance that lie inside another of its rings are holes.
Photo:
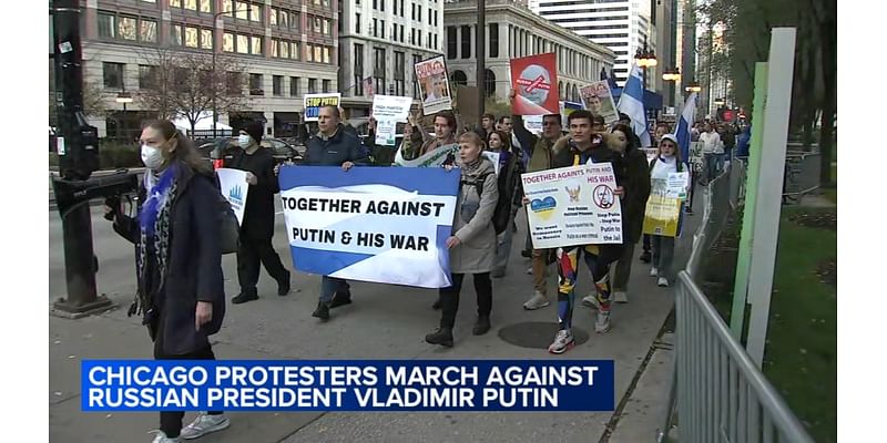
[[[512,114],[557,114],[560,110],[554,53],[511,59],[511,87],[517,91]]]

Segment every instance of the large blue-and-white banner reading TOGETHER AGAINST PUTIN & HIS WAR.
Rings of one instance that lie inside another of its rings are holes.
[[[459,178],[443,168],[282,167],[294,267],[380,284],[451,285],[446,241]]]

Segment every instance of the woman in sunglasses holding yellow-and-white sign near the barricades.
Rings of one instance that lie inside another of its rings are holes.
[[[690,171],[690,166],[681,158],[681,150],[677,148],[677,138],[672,134],[665,134],[659,144],[659,155],[650,164],[651,181],[667,181],[669,174]],[[681,233],[683,212],[677,212],[677,235]],[[667,287],[669,281],[674,279],[674,239],[653,235],[653,267],[650,275],[659,277],[656,285]]]

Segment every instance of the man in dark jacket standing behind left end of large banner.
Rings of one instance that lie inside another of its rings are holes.
[[[368,153],[357,137],[346,134],[340,124],[336,106],[323,106],[317,126],[319,132],[308,140],[304,164],[306,166],[341,166],[350,169],[356,164],[366,164]],[[317,309],[312,313],[320,320],[329,320],[329,310],[351,303],[351,292],[345,279],[323,276]]]

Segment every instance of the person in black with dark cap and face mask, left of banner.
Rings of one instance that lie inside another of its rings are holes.
[[[237,144],[241,150],[225,162],[225,167],[246,171],[249,190],[241,225],[241,248],[237,251],[237,279],[241,293],[231,299],[234,305],[258,299],[259,262],[277,281],[277,295],[289,293],[289,271],[274,250],[274,194],[281,192],[274,173],[274,156],[262,147],[263,125],[253,122],[241,130]]]

